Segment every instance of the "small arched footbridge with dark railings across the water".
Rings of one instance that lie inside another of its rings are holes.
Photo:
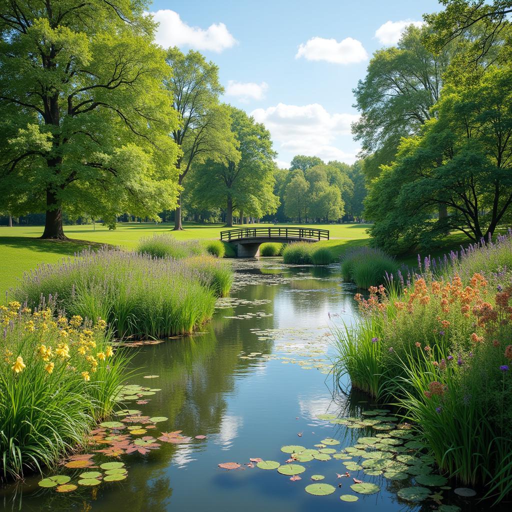
[[[308,227],[244,227],[221,231],[221,240],[232,243],[237,248],[239,258],[255,258],[260,255],[260,245],[265,242],[329,240],[329,230]]]

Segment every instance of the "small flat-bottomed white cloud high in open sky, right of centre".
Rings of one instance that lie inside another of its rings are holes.
[[[347,37],[343,41],[313,37],[298,47],[295,58],[326,60],[335,64],[351,64],[368,59],[368,53],[361,41]]]

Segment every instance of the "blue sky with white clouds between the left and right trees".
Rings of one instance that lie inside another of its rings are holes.
[[[352,89],[375,50],[440,10],[436,0],[156,0],[157,42],[201,51],[220,68],[223,100],[272,133],[280,166],[296,154],[352,163]]]

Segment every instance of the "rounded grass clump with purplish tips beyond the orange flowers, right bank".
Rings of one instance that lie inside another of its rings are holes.
[[[342,256],[342,274],[345,281],[354,282],[358,288],[368,289],[398,274],[396,260],[380,249],[357,247]]]

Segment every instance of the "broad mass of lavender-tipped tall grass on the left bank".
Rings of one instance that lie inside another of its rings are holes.
[[[55,297],[69,315],[105,318],[120,338],[191,333],[226,294],[231,270],[211,256],[173,260],[102,248],[40,266],[11,293],[29,307]]]

